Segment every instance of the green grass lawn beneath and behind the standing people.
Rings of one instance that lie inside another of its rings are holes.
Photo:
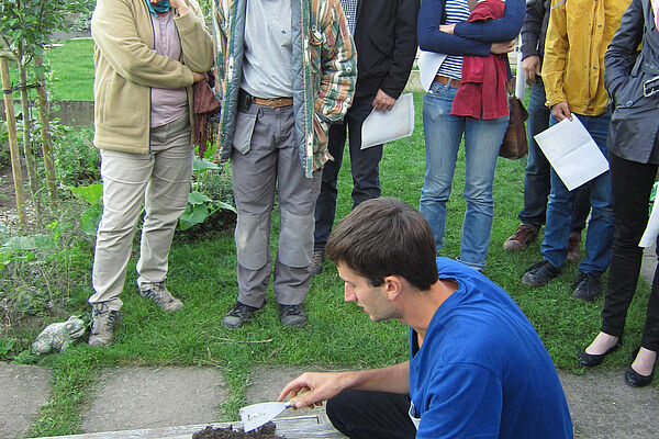
[[[60,56],[59,50],[67,50],[67,54]],[[69,63],[74,56],[83,60]],[[54,49],[49,59],[55,78],[59,78],[58,82],[54,82],[54,95],[59,97],[57,99],[91,98],[91,94],[86,94],[90,93],[89,85],[93,75],[89,42],[67,43]],[[85,65],[87,68],[82,74],[72,70],[69,74],[69,64],[80,68]],[[416,127],[413,137],[388,144],[380,167],[382,195],[399,198],[413,206],[418,205],[424,176],[421,98],[421,93],[415,93]],[[351,206],[349,158],[345,156],[339,175],[337,218],[346,215]],[[557,367],[578,373],[580,369],[576,354],[599,330],[603,299],[592,304],[570,299],[571,282],[577,275],[576,266],[567,267],[562,275],[547,286],[533,289],[523,285],[520,279],[524,269],[540,258],[539,241],[516,254],[505,252],[502,248],[503,240],[518,225],[516,215],[523,203],[525,164],[525,159],[499,160],[494,182],[494,225],[484,274],[502,285],[517,302],[534,324]],[[445,248],[442,251],[451,258],[459,254],[465,214],[461,199],[463,175],[461,151],[448,203]],[[272,236],[276,237],[277,233],[276,215]],[[276,245],[277,239],[271,241]],[[88,315],[86,301],[91,293],[89,277],[92,247],[82,244],[75,251],[76,258],[67,266],[69,271],[66,273],[74,279],[70,290],[66,292],[69,297],[67,309],[70,314]],[[370,368],[406,359],[406,328],[396,322],[372,324],[355,304],[345,304],[343,283],[331,263],[312,280],[305,302],[310,316],[305,327],[281,327],[270,290],[264,309],[248,325],[228,330],[221,326],[220,320],[237,295],[233,230],[216,230],[203,239],[190,239],[189,236],[175,238],[169,259],[168,286],[186,306],[172,315],[159,312],[136,294],[136,252],[127,271],[122,295],[124,318],[118,328],[115,344],[94,349],[80,342],[65,353],[37,361],[53,369],[54,392],[51,401],[42,407],[31,435],[79,432],[80,407],[87,401],[94,380],[107,367],[176,364],[221,368],[230,385],[230,398],[222,406],[222,420],[234,420],[237,409],[245,404],[245,390],[255,364]],[[626,344],[603,367],[627,364],[633,348],[640,339],[645,322],[641,307],[645,308],[648,294],[649,288],[641,281],[627,318]],[[30,337],[37,333],[38,328],[12,328],[0,334],[0,341],[14,337],[26,346]]]

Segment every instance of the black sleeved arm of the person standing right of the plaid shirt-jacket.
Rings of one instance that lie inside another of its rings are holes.
[[[380,90],[394,100],[403,92],[416,56],[416,19],[420,7],[420,0],[402,0],[395,12],[395,36],[389,74],[380,85]]]

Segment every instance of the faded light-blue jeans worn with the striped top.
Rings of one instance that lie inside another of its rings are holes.
[[[490,244],[494,212],[492,182],[499,148],[509,116],[477,120],[450,114],[456,88],[434,82],[423,97],[423,128],[426,144],[426,171],[421,190],[420,212],[429,223],[437,251],[446,227],[446,202],[465,135],[465,192],[467,211],[460,241],[461,262],[481,269]]]

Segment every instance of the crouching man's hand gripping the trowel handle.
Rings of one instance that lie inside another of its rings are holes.
[[[303,373],[283,387],[279,401],[294,397],[293,408],[321,406],[323,401],[333,398],[347,387],[346,376],[347,372]],[[310,392],[304,393],[305,390]]]

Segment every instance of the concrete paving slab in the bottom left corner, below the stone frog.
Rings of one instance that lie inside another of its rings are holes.
[[[0,362],[0,438],[22,438],[51,393],[51,370]]]

